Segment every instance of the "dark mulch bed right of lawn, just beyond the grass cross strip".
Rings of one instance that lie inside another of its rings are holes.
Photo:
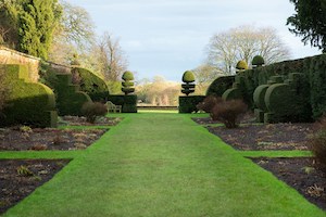
[[[235,129],[206,128],[236,150],[308,150],[313,124],[244,125]]]

